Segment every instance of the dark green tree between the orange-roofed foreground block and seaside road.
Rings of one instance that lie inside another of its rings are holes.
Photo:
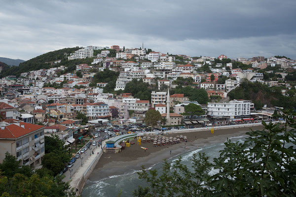
[[[64,141],[57,135],[44,136],[45,155],[41,162],[42,167],[47,168],[57,175],[70,160],[70,155],[64,148]]]

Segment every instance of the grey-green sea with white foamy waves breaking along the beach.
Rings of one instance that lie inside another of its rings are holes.
[[[239,140],[242,142],[245,140],[245,137],[246,136],[232,137],[230,139],[231,141]],[[210,162],[212,162],[214,158],[219,157],[219,151],[222,150],[224,147],[225,145],[223,143],[219,143],[204,146],[202,148],[192,150],[179,156],[182,157],[182,163],[190,168],[190,166],[192,165],[190,159],[192,159],[192,155],[194,153],[205,153],[208,157],[210,157]],[[178,159],[179,156],[169,159],[168,162],[174,162]],[[161,168],[162,162],[154,164],[148,169],[157,169],[158,173],[161,173]],[[141,181],[139,179],[139,175],[137,174],[137,172],[138,170],[131,169],[125,174],[117,174],[95,181],[87,180],[82,190],[81,197],[117,197],[120,191],[121,197],[132,197],[133,191],[136,190],[139,185],[141,185],[142,187],[147,186],[145,181]],[[215,174],[215,171],[210,171],[210,174]]]

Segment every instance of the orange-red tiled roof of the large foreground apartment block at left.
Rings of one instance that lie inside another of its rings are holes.
[[[24,128],[21,127],[22,125],[24,125]],[[33,125],[24,122],[20,122],[20,126],[11,124],[0,130],[0,138],[18,138],[43,127],[42,125]]]

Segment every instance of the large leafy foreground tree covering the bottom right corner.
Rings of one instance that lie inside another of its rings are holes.
[[[296,113],[275,115],[285,123],[262,122],[264,130],[247,132],[244,142],[227,139],[212,164],[198,153],[192,157],[192,170],[181,158],[173,164],[165,160],[160,175],[143,166],[138,174],[148,186],[139,187],[134,196],[296,196]],[[211,169],[216,174],[209,175]]]

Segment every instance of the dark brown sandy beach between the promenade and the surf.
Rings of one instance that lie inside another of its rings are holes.
[[[185,135],[187,142],[154,147],[153,143],[141,143],[137,145],[137,141],[133,140],[135,144],[130,147],[125,147],[121,153],[104,153],[101,156],[96,168],[89,177],[89,180],[95,181],[103,178],[108,178],[112,175],[124,174],[131,170],[140,170],[141,166],[149,167],[153,164],[162,162],[163,159],[178,157],[178,155],[190,152],[192,150],[202,148],[216,143],[224,142],[227,137],[237,137],[245,135],[246,132],[252,130],[261,130],[263,126],[245,127],[235,129],[216,130],[214,133],[211,131],[198,131],[164,134],[162,136],[176,137],[177,135]],[[148,148],[146,151],[141,146]],[[172,151],[172,152],[171,152]]]

